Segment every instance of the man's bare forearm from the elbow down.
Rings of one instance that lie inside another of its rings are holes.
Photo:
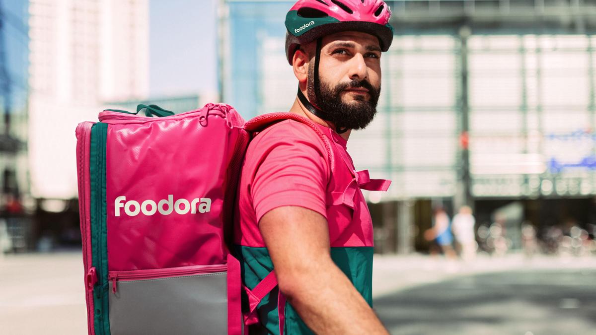
[[[294,273],[282,293],[317,334],[387,334],[346,275],[329,259]]]

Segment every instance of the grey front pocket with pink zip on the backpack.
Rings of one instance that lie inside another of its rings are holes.
[[[110,333],[227,333],[226,271],[226,265],[110,271]]]

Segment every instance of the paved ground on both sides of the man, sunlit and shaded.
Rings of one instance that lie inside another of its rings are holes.
[[[393,334],[588,334],[596,257],[375,256],[375,309]],[[2,334],[85,334],[77,252],[0,258]],[[530,333],[528,333],[530,332]]]

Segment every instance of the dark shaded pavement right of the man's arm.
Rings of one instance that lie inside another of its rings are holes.
[[[596,269],[468,275],[375,300],[392,334],[594,334]]]

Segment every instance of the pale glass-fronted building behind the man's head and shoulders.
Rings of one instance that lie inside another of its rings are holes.
[[[293,103],[293,2],[222,1],[222,99],[246,117]],[[524,218],[544,221],[527,201],[596,195],[596,1],[387,3],[378,114],[348,142],[356,168],[393,180],[371,203],[438,199],[491,221],[504,201],[526,201]],[[592,207],[558,220],[592,222]]]

